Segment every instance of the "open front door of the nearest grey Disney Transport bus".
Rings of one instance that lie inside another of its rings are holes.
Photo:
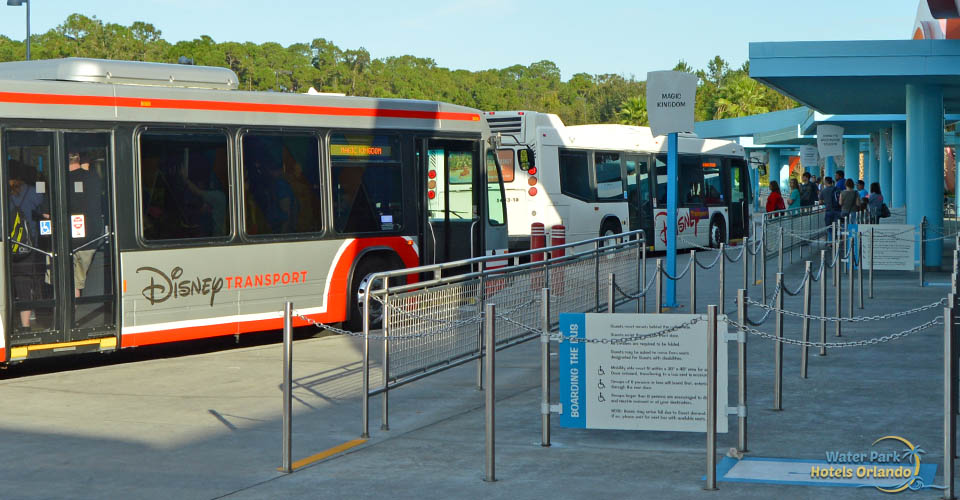
[[[425,159],[421,171],[426,172],[425,263],[482,256],[479,194],[484,188],[479,142],[423,139],[420,151]]]

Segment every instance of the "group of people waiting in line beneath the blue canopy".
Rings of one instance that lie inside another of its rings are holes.
[[[844,177],[843,170],[837,170],[836,180],[830,176],[823,178],[822,183],[816,182],[809,172],[804,172],[803,183],[796,178],[790,179],[790,192],[786,201],[780,194],[780,185],[777,181],[770,181],[770,196],[767,197],[767,212],[786,210],[788,208],[810,207],[818,202],[824,206],[826,225],[834,221],[846,220],[851,213],[867,211],[870,224],[876,224],[881,217],[883,194],[880,192],[880,183],[870,183],[870,191],[864,189],[864,182]]]

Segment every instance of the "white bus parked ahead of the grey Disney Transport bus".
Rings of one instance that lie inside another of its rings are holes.
[[[500,133],[510,248],[529,247],[530,225],[566,226],[567,241],[644,229],[666,249],[667,147],[648,127],[578,125],[534,111],[484,113]],[[747,236],[751,197],[743,147],[679,138],[677,247]],[[530,157],[533,161],[521,161]]]

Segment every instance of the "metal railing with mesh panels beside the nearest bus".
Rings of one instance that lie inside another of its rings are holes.
[[[604,236],[563,245],[511,253],[509,258],[542,254],[542,261],[493,267],[505,256],[485,256],[457,262],[421,266],[377,273],[371,283],[382,283],[364,297],[363,318],[363,431],[369,436],[369,400],[382,396],[383,429],[389,428],[389,391],[479,360],[487,352],[479,325],[484,307],[497,305],[494,348],[506,349],[536,338],[540,290],[553,290],[551,324],[557,324],[559,311],[600,312],[608,298],[601,294],[611,283],[637,300],[637,311],[644,306],[641,280],[645,277],[646,238],[642,230]],[[471,272],[462,272],[464,268]],[[458,273],[458,274],[453,274]],[[397,279],[417,276],[416,282],[394,285]],[[610,281],[608,283],[608,280]],[[649,288],[649,287],[648,287]],[[371,335],[378,318],[371,306],[382,306],[381,335]],[[535,327],[534,327],[535,328]],[[371,387],[370,341],[382,341],[379,387]],[[482,388],[482,368],[477,365],[477,386]]]

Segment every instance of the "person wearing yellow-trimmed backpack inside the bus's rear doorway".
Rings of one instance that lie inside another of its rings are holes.
[[[50,218],[46,196],[37,192],[36,188],[27,183],[32,178],[32,172],[23,163],[9,160],[9,210],[7,211],[8,227],[11,228],[9,251],[10,274],[13,278],[13,300],[28,302],[40,300],[43,297],[41,277],[44,272],[44,262],[41,255],[25,245],[36,247],[40,226],[37,218]],[[32,309],[20,310],[20,326],[30,328]]]

